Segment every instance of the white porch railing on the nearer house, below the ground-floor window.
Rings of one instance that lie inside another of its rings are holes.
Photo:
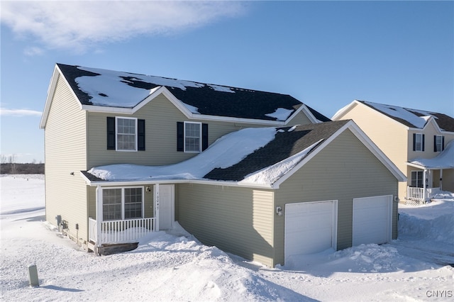
[[[96,220],[89,218],[89,240],[96,245],[135,242],[156,231],[156,218],[101,221],[101,232],[97,234],[96,230]]]

